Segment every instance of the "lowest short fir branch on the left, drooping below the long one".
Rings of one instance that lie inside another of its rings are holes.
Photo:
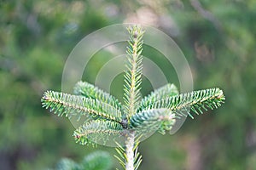
[[[73,133],[76,142],[79,144],[92,144],[102,142],[115,142],[113,137],[119,139],[123,134],[123,127],[117,122],[96,120],[91,122],[85,122],[84,125],[79,127]],[[112,138],[109,139],[109,136]]]

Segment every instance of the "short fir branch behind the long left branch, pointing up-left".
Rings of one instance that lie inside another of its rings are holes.
[[[122,111],[122,105],[119,103],[118,99],[115,99],[111,94],[104,92],[102,89],[95,87],[89,82],[77,82],[74,87],[74,94],[82,95],[85,98],[97,99]]]

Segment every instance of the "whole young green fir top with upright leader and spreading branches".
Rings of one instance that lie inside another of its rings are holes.
[[[193,118],[195,114],[218,108],[224,103],[224,94],[219,88],[178,94],[175,85],[168,83],[141,99],[144,31],[141,26],[130,26],[127,30],[130,41],[126,51],[123,104],[88,82],[78,82],[74,94],[46,91],[42,104],[58,116],[86,117],[73,133],[75,140],[79,144],[113,140],[119,154],[115,157],[126,170],[134,170],[142,162],[137,146],[144,133],[157,130],[165,134],[182,116]],[[119,137],[125,139],[124,144],[119,143]]]

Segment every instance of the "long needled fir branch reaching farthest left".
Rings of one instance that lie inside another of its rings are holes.
[[[47,91],[42,98],[43,107],[58,116],[91,116],[121,123],[121,112],[108,103],[83,96]]]

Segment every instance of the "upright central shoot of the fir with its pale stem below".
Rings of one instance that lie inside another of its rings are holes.
[[[129,46],[127,47],[127,64],[125,71],[125,86],[124,86],[124,108],[126,122],[129,124],[130,117],[134,115],[139,106],[140,100],[140,85],[142,82],[143,71],[143,29],[141,26],[130,26],[128,29],[130,35]],[[129,130],[125,139],[125,169],[134,170],[135,155],[134,155],[134,141],[135,133]]]

